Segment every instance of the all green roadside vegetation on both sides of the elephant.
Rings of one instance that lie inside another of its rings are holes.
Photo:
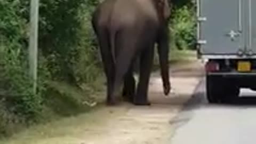
[[[29,2],[0,0],[1,137],[85,113],[105,98],[105,80],[90,22],[98,0],[40,1],[36,95],[28,77]],[[170,61],[195,49],[194,4],[173,1],[173,5]]]

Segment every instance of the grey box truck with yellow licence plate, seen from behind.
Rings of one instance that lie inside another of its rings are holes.
[[[196,0],[196,7],[207,100],[230,102],[241,88],[256,90],[256,1]]]

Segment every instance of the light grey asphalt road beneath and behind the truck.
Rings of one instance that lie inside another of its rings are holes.
[[[205,98],[205,81],[179,116],[171,144],[256,143],[256,93],[241,90],[232,105],[210,105]]]

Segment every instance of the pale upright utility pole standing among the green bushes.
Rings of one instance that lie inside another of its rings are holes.
[[[33,92],[37,89],[39,0],[30,1],[29,74],[33,79]]]

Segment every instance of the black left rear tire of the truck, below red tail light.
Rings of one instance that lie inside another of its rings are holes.
[[[209,103],[219,103],[220,102],[220,88],[221,83],[218,82],[220,78],[215,76],[206,76],[206,98]]]

